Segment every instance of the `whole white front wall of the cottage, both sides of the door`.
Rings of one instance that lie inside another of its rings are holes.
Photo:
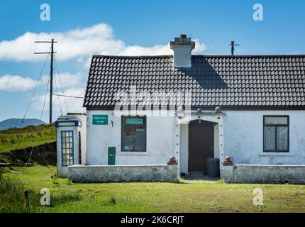
[[[107,114],[108,125],[93,125],[94,114]],[[223,111],[223,114],[223,140],[218,144],[218,125],[214,135],[215,157],[221,161],[230,155],[234,164],[305,165],[305,111]],[[289,153],[263,153],[265,115],[289,116]],[[223,153],[219,152],[220,146]],[[170,156],[175,156],[180,172],[187,172],[188,125],[177,124],[174,116],[147,116],[147,152],[121,152],[121,117],[113,111],[87,111],[87,164],[107,165],[109,147],[116,147],[116,165],[166,164]]]

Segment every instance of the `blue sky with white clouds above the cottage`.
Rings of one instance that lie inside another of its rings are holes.
[[[51,21],[40,21],[44,3]],[[263,21],[253,21],[256,3],[264,7]],[[92,54],[167,54],[168,43],[180,33],[196,39],[196,54],[229,54],[231,40],[240,44],[240,55],[304,54],[304,9],[299,0],[0,1],[0,121],[22,118],[26,111],[45,60],[33,52],[48,51],[35,39],[59,40],[63,93],[82,95]],[[49,65],[27,118],[40,117],[48,71]],[[54,102],[53,119],[60,114],[56,97]],[[84,111],[81,100],[67,103],[68,111]],[[48,109],[43,120],[48,121]]]

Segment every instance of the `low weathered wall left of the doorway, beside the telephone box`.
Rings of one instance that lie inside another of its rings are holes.
[[[177,165],[72,165],[72,182],[177,182]]]

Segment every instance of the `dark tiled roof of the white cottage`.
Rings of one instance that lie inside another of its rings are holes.
[[[192,68],[179,70],[171,55],[94,55],[84,106],[114,106],[116,94],[132,86],[138,93],[188,91],[192,101],[184,104],[192,106],[305,107],[305,55],[192,55]]]

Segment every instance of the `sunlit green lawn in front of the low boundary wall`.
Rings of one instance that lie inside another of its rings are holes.
[[[39,212],[305,212],[304,185],[74,184],[68,179],[52,179],[55,166],[35,165],[14,170],[17,172],[4,175],[21,180],[26,189],[37,194],[41,188],[50,189],[52,206],[36,205]],[[255,188],[264,193],[263,206],[253,205]]]

